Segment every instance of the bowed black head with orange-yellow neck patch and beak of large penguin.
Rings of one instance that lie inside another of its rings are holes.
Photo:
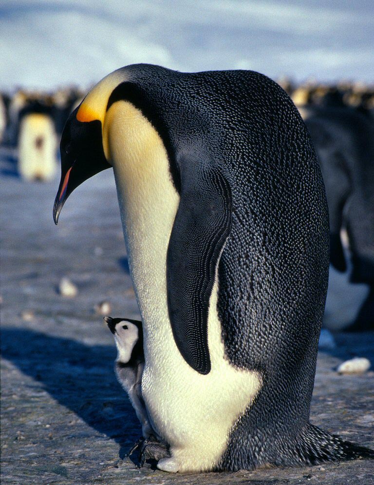
[[[55,224],[66,199],[82,182],[111,168],[103,147],[103,124],[112,90],[124,80],[122,69],[102,79],[69,116],[61,136],[61,180],[53,219]]]

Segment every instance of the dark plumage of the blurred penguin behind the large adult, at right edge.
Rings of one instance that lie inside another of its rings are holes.
[[[374,329],[374,122],[355,109],[304,107],[326,187],[330,214],[331,263],[348,269],[341,233],[345,231],[352,283],[370,287],[351,330]]]

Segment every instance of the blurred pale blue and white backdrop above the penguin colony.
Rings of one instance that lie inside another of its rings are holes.
[[[374,81],[374,1],[1,0],[0,88],[88,87],[118,67]]]

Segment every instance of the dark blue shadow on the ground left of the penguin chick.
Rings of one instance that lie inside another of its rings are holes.
[[[114,347],[87,346],[37,331],[4,328],[1,354],[22,373],[42,383],[58,403],[115,440],[120,446],[119,458],[126,458],[141,436],[141,427],[115,378]]]

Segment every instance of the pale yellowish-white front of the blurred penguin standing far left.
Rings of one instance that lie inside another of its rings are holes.
[[[57,139],[50,116],[29,113],[19,128],[18,170],[26,180],[50,180],[56,173]]]

